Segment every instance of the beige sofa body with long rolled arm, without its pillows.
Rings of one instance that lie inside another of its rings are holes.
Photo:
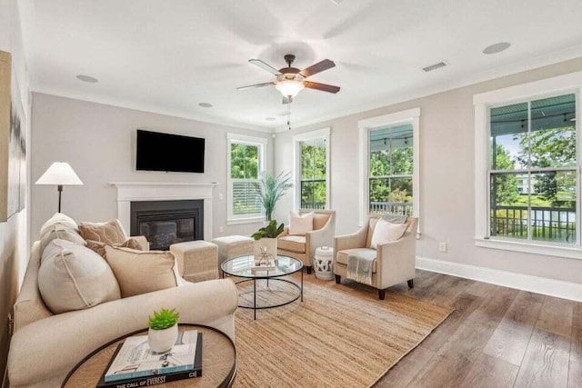
[[[85,310],[51,313],[38,290],[40,244],[33,245],[15,303],[14,336],[8,354],[11,387],[58,387],[76,363],[97,347],[146,327],[147,315],[176,307],[181,323],[201,323],[235,338],[236,286],[230,280],[187,283]]]

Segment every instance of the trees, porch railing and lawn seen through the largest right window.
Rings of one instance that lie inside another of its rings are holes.
[[[491,236],[577,244],[576,95],[490,109]]]

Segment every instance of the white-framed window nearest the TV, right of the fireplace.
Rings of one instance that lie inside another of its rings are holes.
[[[260,174],[266,139],[228,134],[228,224],[263,218]]]

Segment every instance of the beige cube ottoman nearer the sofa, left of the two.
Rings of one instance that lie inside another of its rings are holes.
[[[170,245],[176,256],[178,273],[188,282],[218,279],[218,248],[206,241],[188,241]]]

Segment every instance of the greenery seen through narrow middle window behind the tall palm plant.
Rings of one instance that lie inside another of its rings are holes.
[[[301,142],[301,208],[326,208],[326,139]]]

